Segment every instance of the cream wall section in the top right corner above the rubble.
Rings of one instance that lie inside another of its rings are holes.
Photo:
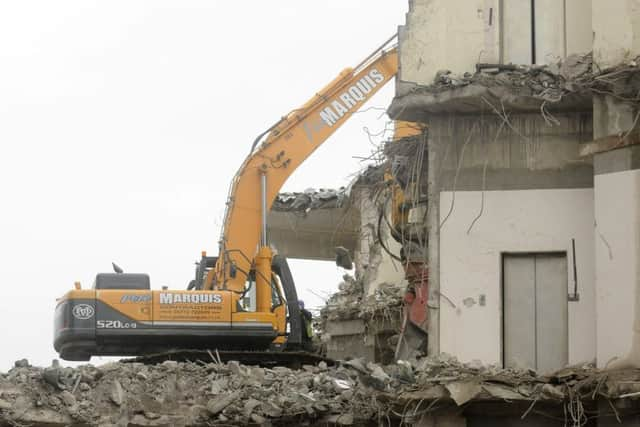
[[[640,55],[640,0],[592,0],[593,59],[600,68]]]

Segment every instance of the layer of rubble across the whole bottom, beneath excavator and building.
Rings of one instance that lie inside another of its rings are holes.
[[[397,425],[427,407],[526,402],[532,413],[545,404],[560,414],[583,408],[584,415],[596,400],[638,397],[637,370],[587,365],[536,376],[446,355],[300,370],[201,361],[38,368],[22,360],[0,374],[0,425]]]

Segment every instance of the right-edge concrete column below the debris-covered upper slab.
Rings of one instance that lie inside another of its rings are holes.
[[[629,104],[594,97],[596,139],[628,132],[634,118]],[[640,355],[640,336],[634,337],[634,331],[640,334],[640,147],[598,153],[593,163],[596,357],[599,367],[619,359],[615,367],[629,362],[622,360],[633,346]]]

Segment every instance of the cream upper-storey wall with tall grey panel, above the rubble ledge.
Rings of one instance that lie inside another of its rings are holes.
[[[404,82],[429,85],[439,70],[473,72],[478,62],[532,61],[530,0],[412,0],[410,5],[400,31]],[[591,20],[588,0],[536,0],[536,63],[590,51]]]

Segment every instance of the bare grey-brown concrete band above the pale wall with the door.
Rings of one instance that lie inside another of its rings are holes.
[[[513,115],[513,129],[494,114],[431,116],[429,143],[439,150],[443,190],[514,190],[593,186],[590,159],[579,155],[592,138],[588,113],[558,114],[549,126],[539,114]],[[486,166],[486,170],[485,170]]]

